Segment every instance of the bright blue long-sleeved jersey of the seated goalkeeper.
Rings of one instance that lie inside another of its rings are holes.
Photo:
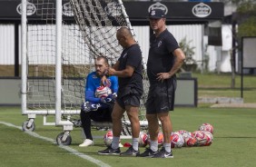
[[[112,93],[117,93],[118,90],[118,79],[116,76],[108,77],[110,81],[110,88]],[[94,93],[96,89],[101,86],[101,77],[98,77],[96,72],[87,75],[86,85],[84,90],[85,102],[101,103],[101,99],[95,97]]]

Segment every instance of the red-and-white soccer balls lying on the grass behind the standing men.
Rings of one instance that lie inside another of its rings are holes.
[[[139,146],[145,147],[150,144],[150,135],[141,132],[139,135]],[[113,140],[112,131],[108,131],[103,136],[103,142],[110,146]],[[190,133],[184,130],[171,133],[171,146],[172,148],[192,147],[192,146],[209,146],[213,141],[213,126],[210,123],[202,123],[198,130]],[[162,146],[163,134],[158,134],[158,145]]]

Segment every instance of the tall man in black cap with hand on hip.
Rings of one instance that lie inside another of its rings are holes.
[[[154,34],[150,38],[147,74],[150,82],[146,102],[146,117],[149,123],[150,148],[139,156],[172,158],[172,122],[169,111],[173,111],[176,89],[175,73],[180,69],[185,55],[173,35],[166,29],[165,15],[161,9],[153,9],[149,14],[150,26]],[[157,136],[162,123],[163,146],[158,151]]]

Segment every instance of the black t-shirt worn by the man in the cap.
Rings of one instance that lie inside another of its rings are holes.
[[[158,37],[150,38],[150,50],[147,62],[147,74],[151,84],[157,83],[159,73],[168,73],[174,64],[172,52],[179,48],[173,35],[166,29]]]

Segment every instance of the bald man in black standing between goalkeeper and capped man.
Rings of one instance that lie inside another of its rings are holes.
[[[99,154],[120,154],[136,156],[139,152],[139,107],[143,94],[143,74],[142,74],[142,51],[140,46],[134,41],[133,34],[127,27],[121,27],[116,38],[123,46],[123,52],[110,68],[108,74],[118,76],[118,92],[116,103],[113,106],[113,142],[111,147],[99,151]],[[132,125],[132,146],[126,152],[120,152],[119,140],[122,131],[123,113],[126,111]]]

